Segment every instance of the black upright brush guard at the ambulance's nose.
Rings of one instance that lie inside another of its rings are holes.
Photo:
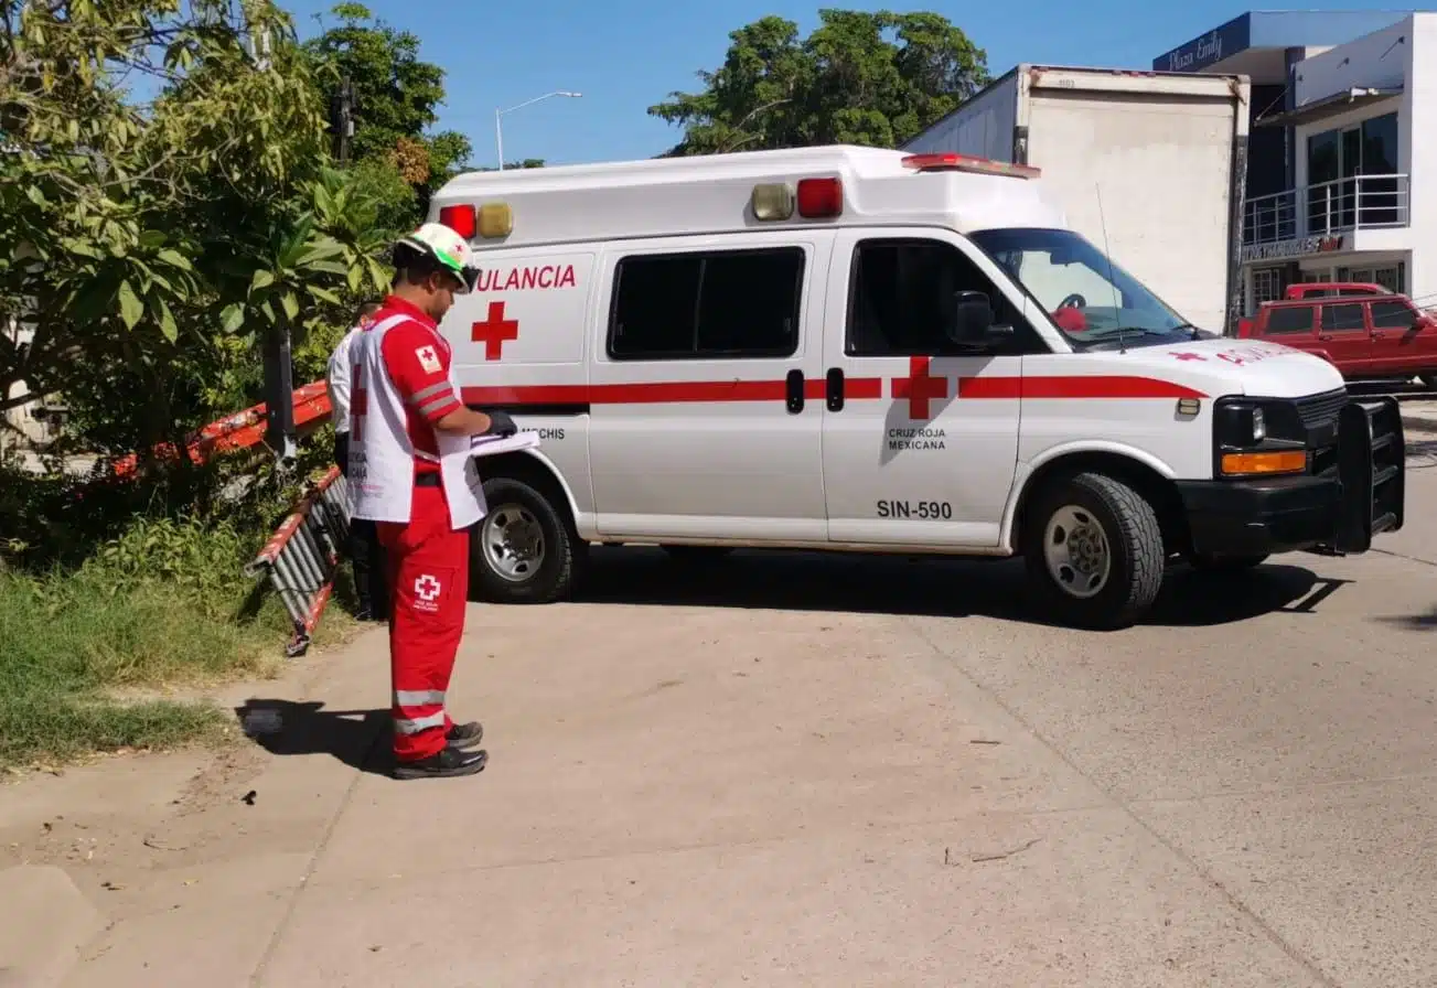
[[[1338,526],[1319,553],[1365,553],[1372,537],[1403,527],[1407,439],[1395,398],[1354,398],[1338,414]]]

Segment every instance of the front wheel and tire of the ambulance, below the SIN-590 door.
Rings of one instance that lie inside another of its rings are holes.
[[[1157,513],[1106,474],[1058,478],[1040,491],[1023,546],[1043,609],[1066,625],[1129,628],[1163,587],[1167,556]]]

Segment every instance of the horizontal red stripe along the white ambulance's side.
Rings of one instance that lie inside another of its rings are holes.
[[[898,379],[904,381],[904,379]],[[901,389],[901,385],[900,385]],[[782,402],[787,385],[779,381],[638,381],[611,385],[507,385],[464,388],[467,405],[680,405]],[[803,383],[805,398],[821,401],[821,378]],[[882,378],[848,378],[845,401],[879,401]],[[1206,398],[1170,381],[1128,376],[960,378],[958,401]]]

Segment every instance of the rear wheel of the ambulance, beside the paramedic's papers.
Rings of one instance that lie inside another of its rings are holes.
[[[489,514],[470,530],[470,582],[493,603],[552,603],[572,595],[588,546],[537,487],[514,477],[484,481]]]

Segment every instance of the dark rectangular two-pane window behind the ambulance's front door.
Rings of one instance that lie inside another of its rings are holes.
[[[635,254],[615,271],[609,358],[785,358],[799,346],[799,247]]]

